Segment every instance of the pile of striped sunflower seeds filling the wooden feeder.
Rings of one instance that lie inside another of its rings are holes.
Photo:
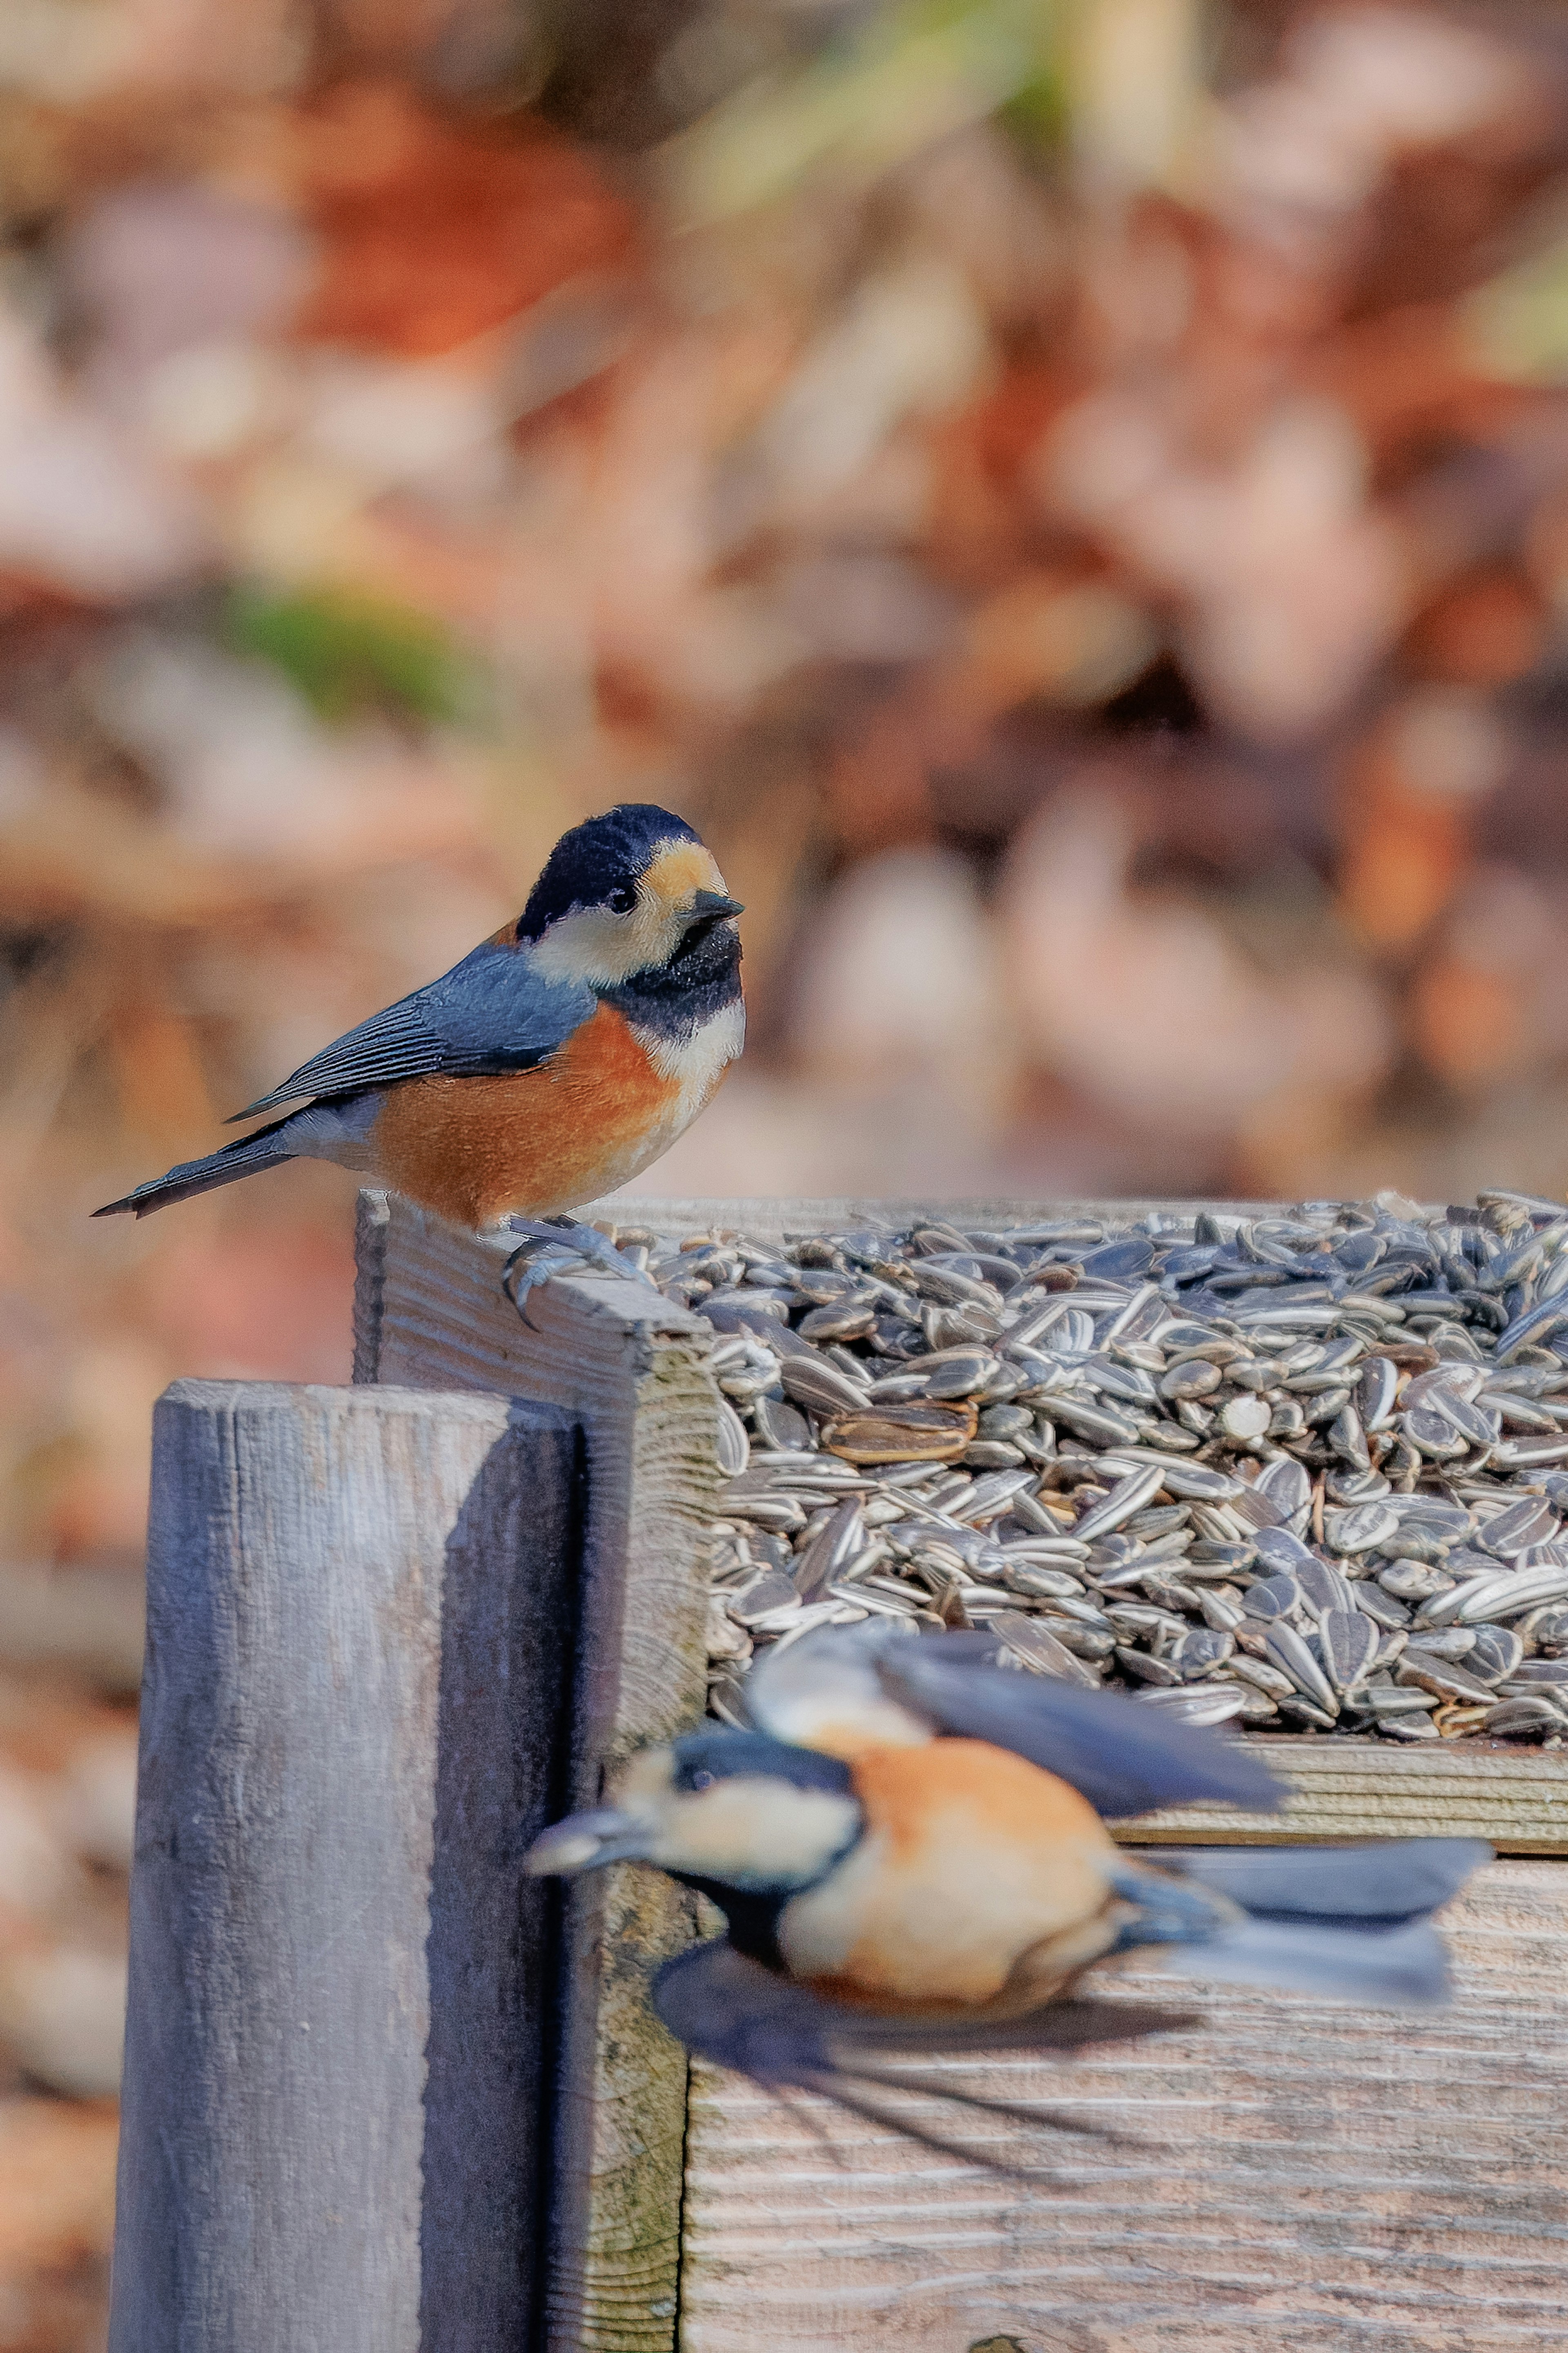
[[[882,1617],[1201,1725],[1568,1732],[1559,1202],[614,1238],[715,1327],[722,1720]]]

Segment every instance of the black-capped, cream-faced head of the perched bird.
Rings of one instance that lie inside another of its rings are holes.
[[[517,941],[541,972],[599,995],[738,988],[741,913],[684,816],[623,802],[562,833]]]

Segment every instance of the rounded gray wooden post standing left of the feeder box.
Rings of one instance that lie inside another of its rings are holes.
[[[113,2353],[517,2353],[541,2299],[581,1433],[155,1417]]]

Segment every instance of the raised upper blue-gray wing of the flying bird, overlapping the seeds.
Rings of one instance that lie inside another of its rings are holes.
[[[990,1635],[926,1635],[879,1645],[877,1675],[940,1732],[1011,1748],[1081,1791],[1107,1821],[1197,1800],[1255,1812],[1281,1805],[1274,1774],[1234,1741],[1173,1725],[1114,1692],[992,1666],[994,1657]]]

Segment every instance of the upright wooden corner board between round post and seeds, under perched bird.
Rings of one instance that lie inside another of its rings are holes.
[[[557,1405],[588,1433],[585,1584],[571,1802],[705,1697],[717,1391],[708,1327],[614,1275],[557,1278],[524,1322],[510,1245],[400,1198],[362,1207],[357,1381],[473,1386]],[[574,1887],[564,1934],[548,2341],[571,2353],[675,2344],[686,2059],[646,2007],[649,1969],[691,1906],[649,1873]]]

